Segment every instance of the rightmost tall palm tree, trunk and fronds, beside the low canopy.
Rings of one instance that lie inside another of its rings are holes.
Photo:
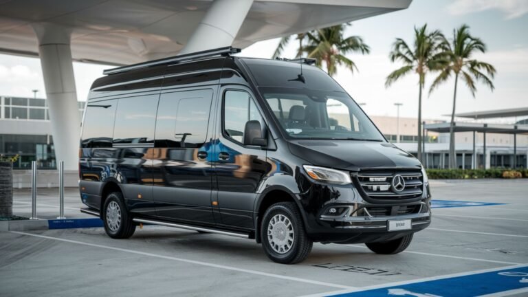
[[[474,60],[472,55],[474,52],[486,52],[486,45],[469,32],[470,28],[467,25],[462,25],[460,28],[453,30],[453,39],[449,42],[444,38],[443,47],[445,47],[445,55],[448,58],[448,64],[443,65],[443,69],[437,78],[434,79],[430,92],[438,87],[440,83],[445,82],[454,74],[454,93],[453,93],[453,111],[451,113],[451,124],[449,127],[449,168],[456,168],[456,153],[454,150],[454,111],[456,107],[456,87],[459,83],[459,76],[464,81],[465,85],[470,89],[473,97],[475,96],[476,80],[480,80],[487,85],[489,89],[494,89],[492,78],[495,76],[495,68],[488,63]]]

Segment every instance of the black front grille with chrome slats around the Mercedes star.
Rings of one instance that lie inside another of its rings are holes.
[[[405,186],[395,188],[393,179],[401,175]],[[421,170],[362,170],[355,175],[362,195],[371,199],[416,199],[423,191]]]

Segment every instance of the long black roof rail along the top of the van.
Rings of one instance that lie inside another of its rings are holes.
[[[140,68],[146,68],[146,67],[153,67],[157,65],[165,65],[170,63],[177,63],[181,61],[192,61],[197,58],[205,58],[208,56],[229,56],[230,54],[236,54],[239,53],[240,49],[235,47],[218,47],[212,50],[205,50],[201,52],[194,52],[189,54],[182,54],[178,56],[172,56],[168,58],[161,58],[158,60],[153,61],[146,61],[143,63],[137,63],[133,65],[127,65],[112,69],[106,69],[102,72],[102,74],[109,75],[109,74],[118,74],[122,72],[129,72],[131,70],[140,69]]]

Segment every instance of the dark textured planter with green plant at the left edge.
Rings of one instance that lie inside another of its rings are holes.
[[[0,155],[0,219],[13,216],[13,163],[18,158]]]

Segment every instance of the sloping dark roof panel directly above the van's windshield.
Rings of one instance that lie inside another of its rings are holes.
[[[243,59],[259,87],[293,87],[327,91],[344,91],[335,80],[315,66],[303,64],[303,83],[298,75],[300,63],[274,60]]]

